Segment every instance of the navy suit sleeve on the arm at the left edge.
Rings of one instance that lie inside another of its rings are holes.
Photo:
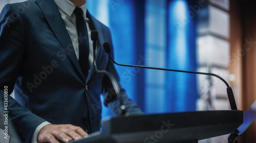
[[[13,5],[6,5],[0,14],[0,96],[4,97],[4,87],[11,94],[25,53],[25,30],[22,18]],[[4,105],[3,100],[0,106]],[[45,120],[24,109],[8,95],[8,120],[13,122],[17,134],[23,142],[30,142],[35,128]]]

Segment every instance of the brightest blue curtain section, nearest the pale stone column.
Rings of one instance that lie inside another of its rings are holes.
[[[193,3],[192,3],[193,4]],[[168,3],[167,68],[196,71],[196,15],[187,1]],[[168,111],[193,111],[196,109],[196,75],[170,72],[168,82]]]

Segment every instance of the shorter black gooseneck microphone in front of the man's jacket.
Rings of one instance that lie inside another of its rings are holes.
[[[97,31],[92,31],[91,32],[91,40],[93,41],[93,64],[94,64],[94,69],[97,73],[103,73],[105,75],[107,75],[113,85],[113,88],[116,92],[117,97],[119,98],[120,101],[120,109],[118,109],[118,113],[124,116],[129,116],[129,112],[126,110],[125,105],[123,104],[123,100],[122,100],[122,96],[120,94],[120,88],[118,86],[118,83],[116,81],[116,79],[114,78],[114,76],[106,71],[106,70],[98,70],[97,69],[97,65],[96,65],[96,45],[97,45],[97,39],[98,39],[98,32]]]

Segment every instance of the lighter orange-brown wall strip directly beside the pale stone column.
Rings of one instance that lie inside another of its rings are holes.
[[[236,97],[239,109],[242,109],[242,56],[240,50],[243,45],[242,18],[240,6],[236,1],[230,1],[230,58],[229,72],[234,75],[231,87]]]

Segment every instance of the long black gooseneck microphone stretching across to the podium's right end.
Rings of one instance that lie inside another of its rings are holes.
[[[110,44],[108,42],[105,42],[103,44],[103,47],[106,51],[106,53],[109,54],[110,59],[113,61],[113,63],[115,63],[116,65],[119,66],[125,66],[125,67],[135,67],[135,68],[144,68],[144,69],[154,69],[154,70],[164,70],[164,71],[174,71],[174,72],[183,72],[183,73],[192,73],[192,74],[202,74],[202,75],[209,75],[209,76],[215,76],[217,78],[219,78],[220,80],[222,80],[226,85],[227,85],[227,95],[228,95],[228,100],[229,100],[229,104],[232,110],[237,110],[237,104],[236,104],[236,100],[234,100],[234,95],[233,95],[233,91],[231,89],[231,87],[229,87],[228,83],[226,80],[224,80],[222,77],[220,77],[217,74],[214,73],[205,73],[205,72],[193,72],[193,71],[183,71],[183,70],[173,70],[173,69],[165,69],[165,68],[155,68],[155,67],[146,67],[146,66],[138,66],[138,65],[127,65],[127,64],[118,64],[114,61],[114,59],[111,56],[111,50],[110,50]]]

